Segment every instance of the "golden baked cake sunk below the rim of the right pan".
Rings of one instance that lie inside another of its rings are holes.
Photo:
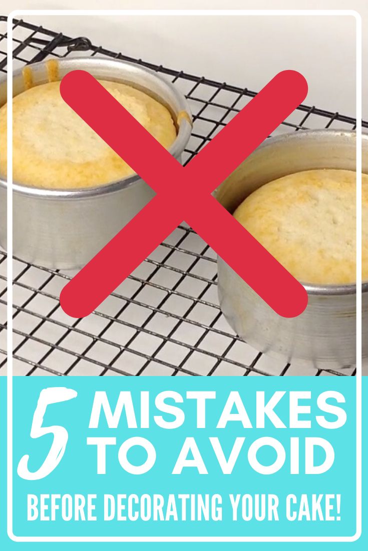
[[[362,279],[368,280],[365,174],[362,215]],[[234,217],[301,282],[356,281],[355,172],[308,170],[284,176],[249,195]]]

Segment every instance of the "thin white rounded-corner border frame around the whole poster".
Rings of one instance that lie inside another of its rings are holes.
[[[362,85],[362,24],[361,17],[354,10],[247,10],[247,9],[227,9],[227,10],[173,10],[173,9],[118,9],[118,10],[14,10],[8,16],[7,31],[8,45],[7,57],[8,67],[13,67],[13,28],[12,20],[14,17],[23,15],[350,15],[356,20],[356,288],[360,289],[356,293],[356,532],[354,536],[15,536],[13,533],[13,264],[7,262],[7,533],[8,537],[14,542],[355,542],[361,536],[361,85]],[[10,61],[10,63],[9,63]],[[7,96],[13,97],[13,79],[9,78],[13,71],[8,71]],[[8,175],[13,174],[13,104],[8,102],[7,114],[7,149],[8,149]],[[8,259],[13,256],[13,193],[12,184],[7,188],[7,248]],[[11,215],[9,215],[11,213]]]

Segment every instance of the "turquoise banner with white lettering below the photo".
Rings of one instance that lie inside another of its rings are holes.
[[[83,537],[106,539],[94,544],[102,549],[137,537],[340,538],[364,548],[353,542],[355,377],[14,377],[13,385],[12,529],[30,539],[21,548]],[[4,450],[6,379],[1,406]],[[2,452],[0,544],[13,549],[6,474]],[[281,544],[257,543],[265,545]]]

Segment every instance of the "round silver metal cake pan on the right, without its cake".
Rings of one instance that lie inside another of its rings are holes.
[[[362,137],[362,172],[368,174],[368,136]],[[311,169],[356,168],[354,132],[311,130],[267,139],[217,188],[217,200],[231,213],[265,183]],[[239,250],[246,255],[247,251]],[[252,258],[249,258],[252,262]],[[296,318],[276,314],[221,258],[221,309],[239,337],[265,354],[303,367],[341,369],[356,361],[356,285],[314,285],[306,310]],[[270,280],[272,285],[272,280]],[[359,312],[360,315],[360,312]],[[368,282],[362,283],[362,333],[368,330]],[[368,356],[363,339],[362,356]]]

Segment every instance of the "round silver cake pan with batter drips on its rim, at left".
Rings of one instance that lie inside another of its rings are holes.
[[[177,126],[177,138],[169,152],[181,160],[191,133],[188,102],[173,84],[149,69],[98,57],[44,61],[14,72],[13,95],[30,84],[36,86],[49,80],[61,80],[74,69],[88,71],[98,79],[129,84],[165,105]],[[3,79],[0,106],[6,103],[6,94],[6,79]],[[0,179],[0,246],[3,249],[7,244],[6,193],[7,181]],[[81,268],[153,196],[151,188],[136,174],[98,187],[76,190],[48,190],[13,182],[14,256],[52,269]]]

